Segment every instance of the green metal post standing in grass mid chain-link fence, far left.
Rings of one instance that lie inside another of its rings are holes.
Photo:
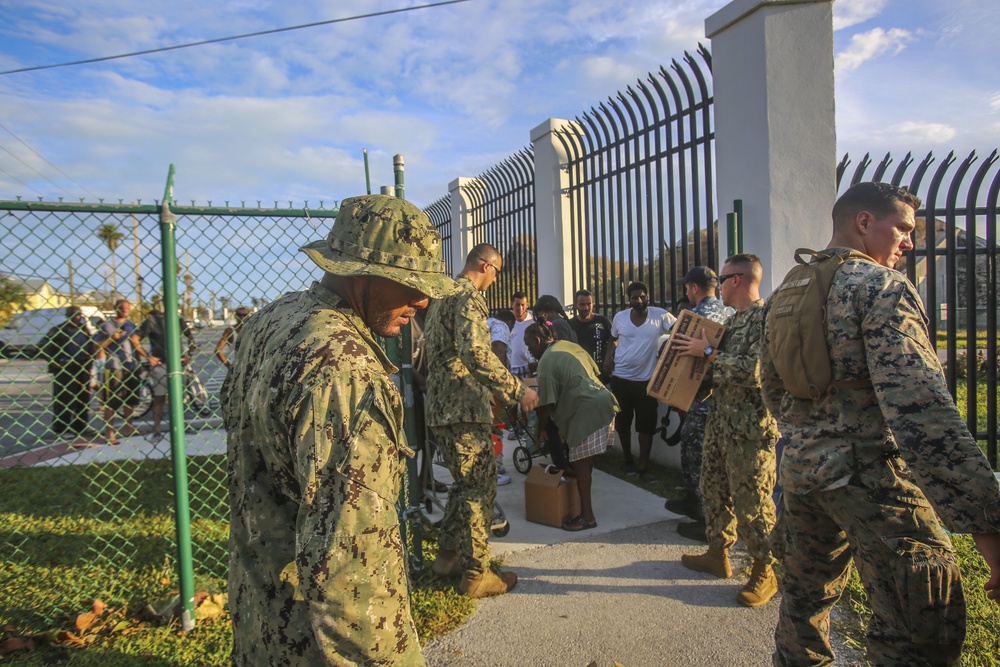
[[[194,566],[191,557],[191,510],[188,504],[187,453],[184,442],[184,387],[181,369],[181,331],[177,317],[177,216],[170,210],[174,195],[174,165],[160,206],[160,245],[163,250],[163,321],[166,328],[167,380],[170,402],[170,451],[174,468],[174,511],[177,527],[177,570],[180,579],[181,629],[194,629]]]

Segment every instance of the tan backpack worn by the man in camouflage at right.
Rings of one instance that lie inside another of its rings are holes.
[[[816,400],[831,384],[839,389],[869,384],[867,380],[833,383],[830,350],[826,346],[826,300],[834,274],[849,259],[875,262],[856,250],[817,252],[799,248],[795,251],[798,266],[788,272],[769,300],[768,352],[785,391],[796,398]]]

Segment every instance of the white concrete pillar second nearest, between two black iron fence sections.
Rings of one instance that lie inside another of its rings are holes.
[[[560,137],[556,136],[560,134]],[[577,124],[549,118],[531,130],[535,148],[535,248],[538,252],[538,294],[551,294],[563,304],[573,303],[573,264],[570,259],[570,200],[566,194],[569,158],[564,142],[579,145]]]

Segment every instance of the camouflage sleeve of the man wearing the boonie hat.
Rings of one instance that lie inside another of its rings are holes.
[[[340,380],[314,386],[297,410],[295,560],[283,573],[329,664],[345,647],[417,646],[395,507],[399,432],[375,382]]]

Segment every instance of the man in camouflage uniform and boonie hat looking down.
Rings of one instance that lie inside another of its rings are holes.
[[[395,336],[451,294],[427,216],[345,199],[303,251],[319,282],[249,317],[222,386],[233,665],[423,665],[397,500],[406,459]]]

